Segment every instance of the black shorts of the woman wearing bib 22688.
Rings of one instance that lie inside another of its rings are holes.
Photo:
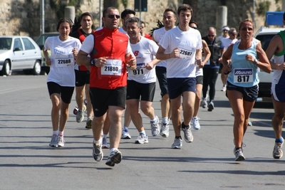
[[[61,100],[63,102],[65,102],[66,104],[71,103],[71,98],[73,95],[74,87],[61,86],[61,85],[58,85],[58,83],[54,83],[54,82],[48,82],[46,84],[48,85],[49,96],[56,93],[56,94],[61,95]]]

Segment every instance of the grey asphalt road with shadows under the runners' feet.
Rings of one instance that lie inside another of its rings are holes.
[[[138,132],[131,124],[133,138],[121,140],[123,160],[111,168],[105,165],[107,156],[101,162],[93,159],[91,130],[73,115],[74,95],[66,146],[51,148],[46,75],[1,76],[0,189],[285,189],[285,159],[272,158],[272,107],[254,108],[254,126],[244,137],[246,160],[235,162],[234,117],[221,87],[219,78],[214,110],[199,110],[201,130],[192,130],[194,142],[171,149],[172,125],[170,137],[152,137],[142,115],[149,144],[134,144]],[[158,87],[153,106],[160,117]]]

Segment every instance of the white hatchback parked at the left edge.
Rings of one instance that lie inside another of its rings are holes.
[[[25,74],[41,73],[41,49],[28,36],[0,36],[1,75],[12,70],[24,70]]]

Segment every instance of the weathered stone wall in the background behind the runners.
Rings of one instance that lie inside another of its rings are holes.
[[[2,0],[0,2],[0,36],[22,35],[31,36],[35,39],[41,33],[41,0]],[[62,0],[45,0],[45,32],[56,31],[57,18],[56,12],[52,9],[51,3],[60,4]],[[120,2],[120,0],[118,0]],[[257,0],[257,3],[263,0]],[[276,7],[282,7],[281,1],[270,0],[271,6],[268,11],[276,11]],[[162,21],[162,14],[166,8],[177,10],[182,4],[182,0],[147,0],[147,12],[138,12],[146,23],[146,31],[156,28],[157,20]],[[192,20],[199,23],[199,31],[204,36],[209,26],[216,26],[216,11],[218,6],[222,6],[218,0],[193,0],[189,1],[193,7],[194,14]],[[128,1],[128,7],[134,9],[134,0]],[[239,21],[252,19],[252,1],[228,0],[227,23],[230,27],[237,28]],[[118,6],[123,11],[123,5]],[[99,27],[99,0],[78,0],[76,15],[89,11],[94,17],[95,28]],[[62,10],[64,12],[64,10]],[[63,14],[64,15],[64,14]],[[256,28],[264,24],[264,16],[255,14]]]

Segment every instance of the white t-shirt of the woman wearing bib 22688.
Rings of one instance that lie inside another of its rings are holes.
[[[51,36],[46,39],[44,50],[51,50],[51,68],[48,73],[48,82],[58,83],[61,86],[74,87],[76,78],[73,57],[73,48],[77,51],[81,48],[81,41],[68,36],[66,41],[61,41],[59,36]]]

